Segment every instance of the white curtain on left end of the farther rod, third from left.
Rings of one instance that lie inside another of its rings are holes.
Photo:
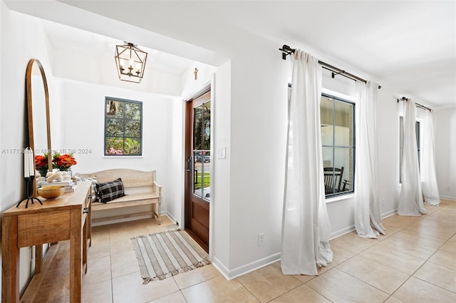
[[[409,99],[404,101],[404,153],[402,186],[398,202],[398,215],[403,216],[420,216],[427,213],[421,191],[415,124],[415,101]]]

